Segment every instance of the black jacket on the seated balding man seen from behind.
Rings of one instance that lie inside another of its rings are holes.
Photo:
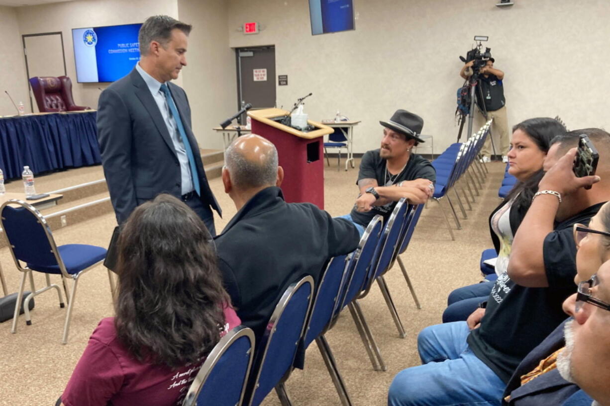
[[[215,237],[218,266],[242,324],[259,343],[290,283],[305,275],[317,284],[329,258],[354,251],[350,221],[310,203],[286,203],[278,187],[257,193]]]

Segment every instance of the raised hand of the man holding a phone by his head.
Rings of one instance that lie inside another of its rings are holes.
[[[573,171],[576,148],[570,149],[557,163],[551,167],[538,183],[538,190],[553,190],[567,196],[580,188],[584,188],[600,181],[600,177],[576,177]]]

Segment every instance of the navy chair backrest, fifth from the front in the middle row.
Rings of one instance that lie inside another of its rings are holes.
[[[400,243],[399,237],[401,232],[406,226],[405,218],[407,212],[411,212],[412,205],[409,205],[405,198],[400,199],[397,202],[390,218],[387,220],[386,227],[384,228],[384,237],[379,239],[379,258],[377,263],[371,267],[369,272],[365,294],[368,293],[373,281],[380,275],[387,272],[392,258],[397,250],[398,244]]]

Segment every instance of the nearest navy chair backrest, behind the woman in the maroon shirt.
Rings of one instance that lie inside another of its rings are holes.
[[[239,406],[254,357],[254,332],[237,326],[207,355],[182,406]]]

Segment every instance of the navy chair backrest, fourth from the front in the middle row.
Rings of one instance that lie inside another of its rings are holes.
[[[355,262],[354,271],[351,274],[350,281],[347,285],[345,295],[336,313],[341,312],[343,307],[356,299],[356,296],[362,291],[364,283],[367,280],[368,269],[375,264],[378,256],[379,238],[381,238],[381,230],[383,227],[383,218],[380,215],[375,215],[368,223],[367,229],[364,230],[360,239],[359,247],[354,252],[352,260]],[[357,255],[356,255],[357,254]]]

